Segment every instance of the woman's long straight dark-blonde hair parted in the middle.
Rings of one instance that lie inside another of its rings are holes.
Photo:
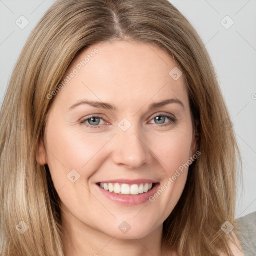
[[[163,223],[163,244],[180,255],[227,253],[228,236],[220,227],[225,221],[235,225],[239,150],[214,68],[196,31],[167,0],[58,0],[31,32],[1,108],[0,254],[64,255],[59,197],[48,166],[35,157],[54,100],[47,95],[82,49],[110,40],[161,47],[186,80],[201,155],[189,167],[181,198]],[[18,229],[27,230],[22,234]]]

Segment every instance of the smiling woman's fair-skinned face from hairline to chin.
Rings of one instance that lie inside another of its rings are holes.
[[[64,78],[37,157],[64,222],[123,239],[162,228],[196,151],[177,64],[151,44],[105,42],[77,55]]]

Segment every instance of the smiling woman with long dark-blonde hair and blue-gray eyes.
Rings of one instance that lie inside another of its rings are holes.
[[[1,255],[243,255],[229,115],[168,1],[57,1],[3,105]]]

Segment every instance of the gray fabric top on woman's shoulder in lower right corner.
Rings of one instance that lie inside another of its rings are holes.
[[[256,255],[256,211],[236,219],[240,231],[237,237],[240,240],[244,256]]]

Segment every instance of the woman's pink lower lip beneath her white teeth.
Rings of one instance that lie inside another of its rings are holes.
[[[136,195],[131,195],[131,194],[116,194],[114,192],[109,192],[106,191],[105,189],[101,188],[100,186],[96,185],[98,189],[110,200],[121,204],[121,205],[137,205],[137,204],[142,204],[148,201],[148,198],[152,196],[156,190],[157,187],[159,186],[159,183],[156,183],[154,187],[149,190],[146,193],[142,194],[136,194]]]

